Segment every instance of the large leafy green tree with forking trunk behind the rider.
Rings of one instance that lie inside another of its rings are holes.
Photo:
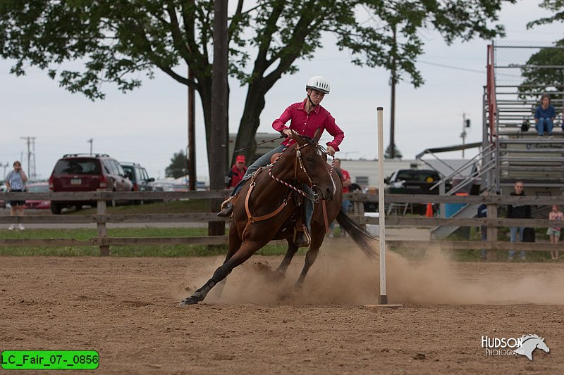
[[[503,34],[501,25],[492,24],[503,2],[515,0],[257,0],[247,8],[238,0],[228,25],[228,71],[247,87],[247,96],[235,149],[252,146],[264,96],[284,74],[298,70],[296,61],[314,57],[322,34],[333,34],[357,65],[389,70],[393,56],[396,80],[417,87],[423,82],[415,67],[424,46],[420,29],[432,27],[448,43],[490,39]],[[0,56],[16,60],[16,75],[37,66],[61,87],[92,100],[104,98],[106,82],[130,91],[142,83],[140,72],[150,79],[162,70],[200,94],[209,150],[213,11],[211,0],[4,0]],[[82,68],[69,67],[69,61]],[[182,73],[184,64],[193,80]]]

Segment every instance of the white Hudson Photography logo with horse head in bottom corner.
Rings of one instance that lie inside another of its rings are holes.
[[[533,360],[533,352],[535,349],[550,352],[544,338],[538,335],[523,335],[521,337],[489,337],[482,336],[482,348],[486,350],[486,355],[524,355]]]

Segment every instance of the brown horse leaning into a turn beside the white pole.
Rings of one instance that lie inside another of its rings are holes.
[[[288,242],[286,255],[275,271],[278,277],[284,277],[298,251],[293,229],[295,222],[300,222],[302,217],[300,195],[309,196],[300,189],[302,184],[307,184],[312,189],[314,193],[309,198],[317,202],[312,216],[309,249],[300,277],[295,283],[296,287],[303,284],[325,239],[326,229],[335,219],[369,258],[375,256],[369,243],[374,237],[341,210],[341,179],[327,164],[327,154],[319,145],[320,136],[321,129],[317,129],[312,139],[293,132],[295,142],[278,155],[274,163],[257,170],[247,181],[235,202],[229,228],[228,252],[223,265],[216,269],[212,278],[201,288],[182,300],[180,306],[194,305],[204,300],[207,293],[226,279],[235,267],[273,239],[286,239]],[[325,203],[319,202],[320,198]],[[244,203],[239,202],[242,200]],[[220,285],[222,288],[223,284]]]

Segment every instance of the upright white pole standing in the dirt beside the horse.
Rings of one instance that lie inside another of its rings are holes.
[[[384,108],[378,107],[378,211],[380,224],[380,295],[378,304],[386,305],[386,224],[384,220]],[[390,144],[393,147],[393,144]]]

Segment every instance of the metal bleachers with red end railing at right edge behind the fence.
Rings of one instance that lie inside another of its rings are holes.
[[[492,44],[489,46],[489,80],[484,94],[484,142],[496,145],[495,167],[489,188],[508,194],[517,181],[528,195],[553,196],[564,191],[564,61],[560,65],[531,65],[541,50],[564,56],[563,46],[550,44]],[[548,63],[553,63],[549,61]],[[550,72],[560,82],[532,82],[531,72]],[[528,73],[525,74],[524,72]],[[556,110],[552,138],[539,137],[534,110],[541,94],[551,96]],[[526,130],[529,125],[529,129]]]

